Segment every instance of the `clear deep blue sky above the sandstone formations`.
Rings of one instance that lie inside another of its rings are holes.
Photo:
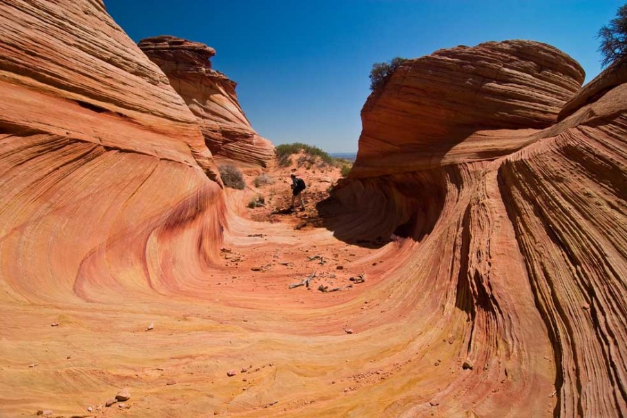
[[[213,68],[275,145],[354,152],[372,63],[440,48],[532,39],[601,70],[597,32],[625,0],[104,0],[135,42],[171,34],[215,48]]]

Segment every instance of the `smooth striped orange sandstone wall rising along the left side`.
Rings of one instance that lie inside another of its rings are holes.
[[[0,15],[1,297],[158,288],[166,242],[211,259],[220,177],[161,70],[100,1],[4,1]]]

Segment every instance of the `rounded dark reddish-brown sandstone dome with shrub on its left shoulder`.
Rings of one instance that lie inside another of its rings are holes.
[[[523,129],[557,121],[582,82],[577,62],[539,42],[488,42],[409,59],[361,112],[351,177],[505,155],[528,143]]]

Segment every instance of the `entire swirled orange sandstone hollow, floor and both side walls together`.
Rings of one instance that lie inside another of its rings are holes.
[[[3,1],[0,34],[2,417],[120,388],[126,417],[627,415],[621,70],[579,91],[523,41],[409,61],[330,230],[296,230],[233,215],[101,1]]]

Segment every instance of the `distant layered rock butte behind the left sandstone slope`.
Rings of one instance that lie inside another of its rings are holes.
[[[163,70],[196,115],[216,159],[269,166],[274,146],[253,130],[238,103],[235,82],[211,68],[213,48],[169,36],[142,39],[139,48]]]

